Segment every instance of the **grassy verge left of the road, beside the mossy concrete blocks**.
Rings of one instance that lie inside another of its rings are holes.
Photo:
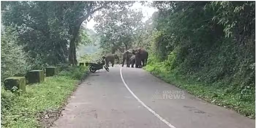
[[[26,93],[11,93],[1,87],[1,126],[3,128],[42,127],[38,114],[59,110],[71,95],[87,68],[70,67],[45,82],[26,86]]]

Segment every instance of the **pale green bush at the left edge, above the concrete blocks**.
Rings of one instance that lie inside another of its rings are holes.
[[[27,54],[17,45],[17,33],[6,27],[1,33],[1,78],[23,74],[29,69],[26,62]]]

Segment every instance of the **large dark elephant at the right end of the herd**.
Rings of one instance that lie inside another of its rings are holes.
[[[147,65],[148,52],[142,48],[136,48],[132,50],[132,54],[135,54],[135,67],[136,65],[140,67],[142,61],[142,67]],[[137,67],[136,67],[137,68]]]

